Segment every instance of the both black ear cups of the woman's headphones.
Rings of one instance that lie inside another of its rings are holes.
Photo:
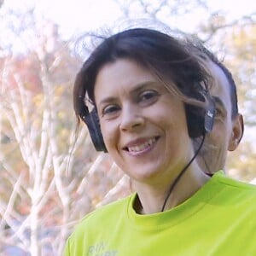
[[[212,131],[215,116],[215,102],[207,91],[204,91],[203,95],[208,103],[206,109],[185,103],[189,137],[191,138],[200,137],[206,132]],[[88,107],[84,104],[79,116],[88,127],[96,151],[108,152],[103,141],[96,108],[93,108],[89,112]]]

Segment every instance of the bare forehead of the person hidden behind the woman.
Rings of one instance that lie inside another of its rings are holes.
[[[207,62],[208,68],[212,76],[212,87],[210,93],[216,96],[223,102],[226,110],[231,113],[231,97],[230,97],[230,83],[226,78],[224,72],[217,64],[212,61]]]

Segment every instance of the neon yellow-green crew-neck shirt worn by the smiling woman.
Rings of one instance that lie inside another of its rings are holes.
[[[217,172],[195,195],[166,212],[140,215],[133,194],[91,212],[64,255],[256,255],[256,186]]]

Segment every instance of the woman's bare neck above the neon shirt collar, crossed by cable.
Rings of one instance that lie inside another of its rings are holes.
[[[140,183],[138,185],[137,183],[134,183],[134,187],[137,189],[138,195],[135,210],[141,214],[161,212],[167,196],[168,198],[164,210],[166,211],[172,207],[176,207],[194,195],[203,184],[207,183],[209,178],[210,177],[204,172],[201,172],[201,170],[193,172],[189,168],[187,172],[183,173],[183,176],[176,183],[175,187],[172,189],[172,193],[169,196],[168,192],[172,186],[172,183],[161,188],[156,188],[148,184]]]

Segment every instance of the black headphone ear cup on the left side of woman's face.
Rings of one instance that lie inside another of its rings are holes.
[[[96,151],[108,152],[102,137],[100,120],[96,112],[96,108],[93,108],[92,111],[88,113],[86,116],[82,116],[81,119],[88,127],[90,137],[92,143],[94,144],[94,147],[96,148]]]

